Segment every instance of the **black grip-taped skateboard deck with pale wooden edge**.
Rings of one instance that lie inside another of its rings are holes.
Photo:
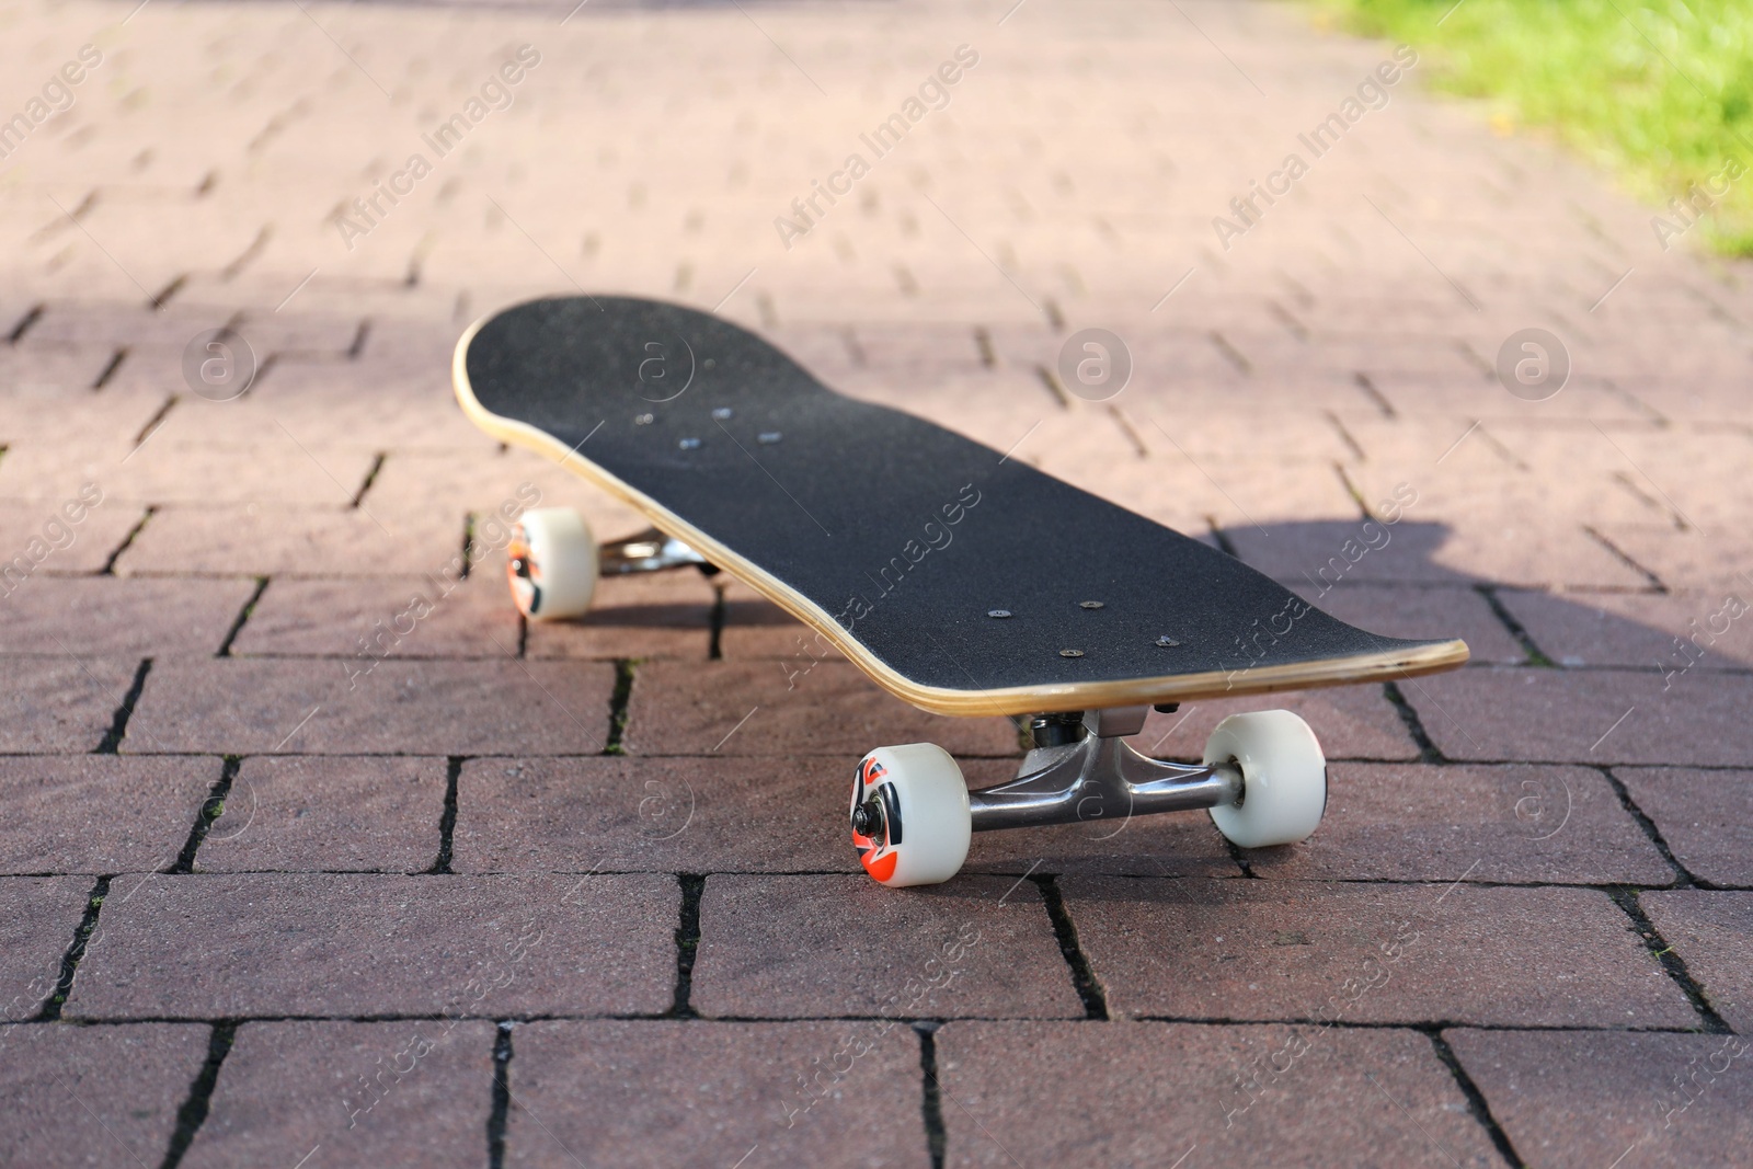
[[[1394,680],[1458,640],[1348,626],[1199,540],[927,419],[841,396],[720,317],[557,296],[475,322],[489,435],[643,512],[943,715]]]

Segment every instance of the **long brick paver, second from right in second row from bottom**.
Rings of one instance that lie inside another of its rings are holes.
[[[1125,1015],[1697,1024],[1625,913],[1588,889],[1089,876],[1064,889]]]

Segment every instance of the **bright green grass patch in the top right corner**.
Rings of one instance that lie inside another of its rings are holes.
[[[1753,0],[1315,4],[1418,49],[1420,72],[1488,102],[1494,128],[1548,130],[1650,203],[1707,209],[1686,210],[1686,235],[1753,256]]]

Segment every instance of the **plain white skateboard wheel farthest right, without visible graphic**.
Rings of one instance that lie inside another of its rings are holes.
[[[1327,810],[1327,757],[1309,724],[1288,710],[1224,719],[1204,761],[1241,769],[1241,799],[1211,808],[1217,831],[1241,848],[1308,840]]]

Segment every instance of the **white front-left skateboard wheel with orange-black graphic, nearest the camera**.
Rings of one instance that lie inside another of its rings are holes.
[[[878,747],[852,778],[852,847],[891,889],[947,882],[968,859],[968,783],[936,743]]]

